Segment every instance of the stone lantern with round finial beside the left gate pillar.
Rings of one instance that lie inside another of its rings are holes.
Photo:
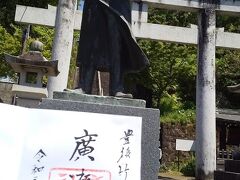
[[[6,61],[19,73],[18,84],[12,87],[13,104],[24,107],[36,107],[42,98],[48,97],[43,87],[43,76],[57,76],[58,61],[48,61],[41,53],[43,44],[33,41],[30,51],[20,56],[5,54]]]

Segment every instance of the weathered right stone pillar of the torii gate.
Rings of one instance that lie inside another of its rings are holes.
[[[196,179],[214,179],[216,169],[215,4],[199,11],[196,122]]]

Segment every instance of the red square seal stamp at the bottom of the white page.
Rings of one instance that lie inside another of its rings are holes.
[[[111,172],[106,170],[85,169],[85,168],[52,168],[49,172],[48,180],[111,180]]]

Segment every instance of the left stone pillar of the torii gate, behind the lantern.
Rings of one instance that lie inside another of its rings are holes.
[[[67,88],[68,72],[72,52],[74,17],[76,0],[59,0],[55,21],[55,36],[53,41],[52,60],[58,60],[59,75],[49,77],[48,95],[54,91],[63,91]]]

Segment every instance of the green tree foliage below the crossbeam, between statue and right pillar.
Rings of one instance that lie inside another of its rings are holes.
[[[150,59],[150,67],[146,71],[149,74],[141,74],[138,81],[144,82],[142,85],[153,90],[153,106],[160,107],[161,98],[169,89],[175,91],[172,93],[178,92],[184,101],[194,100],[196,48],[146,40],[139,41],[139,44]],[[144,81],[143,78],[147,80]]]

